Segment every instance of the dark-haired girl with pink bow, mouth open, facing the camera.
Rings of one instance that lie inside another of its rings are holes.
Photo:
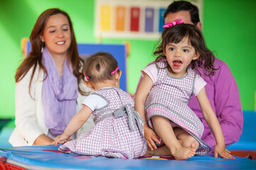
[[[214,74],[213,53],[196,26],[183,24],[178,19],[166,23],[164,28],[161,43],[154,52],[158,57],[155,64],[142,71],[144,78],[134,99],[135,110],[148,123],[144,125],[150,148],[146,154],[188,159],[210,152],[210,147],[201,140],[203,123],[188,108],[188,101],[195,94],[215,136],[215,157],[220,154],[223,158],[233,158],[225,149],[220,123],[206,96],[206,81],[197,74],[198,67],[203,68],[206,75]],[[154,142],[162,147],[156,149]]]

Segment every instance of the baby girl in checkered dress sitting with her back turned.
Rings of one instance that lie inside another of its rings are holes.
[[[87,96],[63,134],[55,138],[55,145],[68,140],[92,114],[95,127],[60,145],[61,152],[124,159],[144,155],[144,121],[134,111],[131,96],[119,89],[122,71],[117,61],[107,52],[97,52],[85,62],[83,72],[85,85],[95,91]]]

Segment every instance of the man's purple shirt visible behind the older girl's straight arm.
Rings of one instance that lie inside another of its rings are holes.
[[[225,146],[237,142],[242,134],[242,107],[240,103],[240,95],[238,85],[225,62],[218,59],[215,60],[215,67],[220,67],[215,72],[213,77],[205,77],[203,79],[207,82],[206,94],[210,100],[210,104],[215,112],[220,126],[223,130],[225,138]],[[200,70],[201,71],[201,70]],[[203,71],[201,71],[203,73]],[[205,130],[203,132],[202,140],[206,142],[213,151],[216,145],[213,133],[210,131],[206,120],[203,119],[201,108],[196,100],[196,97],[191,96],[188,106],[203,120]]]

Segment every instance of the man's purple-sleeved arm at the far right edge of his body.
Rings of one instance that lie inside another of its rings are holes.
[[[221,61],[220,61],[221,62]],[[242,135],[242,106],[235,78],[225,62],[220,63],[220,70],[215,79],[215,108],[220,121],[225,145],[238,142]]]

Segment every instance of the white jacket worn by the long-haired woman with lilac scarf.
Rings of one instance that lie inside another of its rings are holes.
[[[36,138],[42,134],[48,135],[49,130],[44,123],[44,110],[42,101],[43,70],[36,67],[33,80],[31,82],[31,96],[29,94],[29,82],[33,67],[28,71],[25,77],[16,84],[15,91],[15,125],[9,142],[14,147],[34,145]],[[91,91],[83,83],[80,88],[84,91]],[[82,108],[82,101],[86,96],[78,93],[78,111]],[[82,132],[90,130],[94,126],[92,116],[87,120],[85,125],[78,130],[78,137]]]

